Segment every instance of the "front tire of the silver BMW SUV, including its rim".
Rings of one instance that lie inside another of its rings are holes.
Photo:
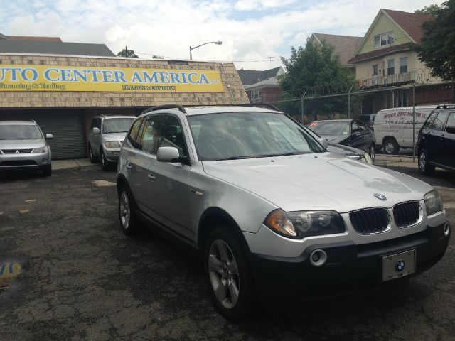
[[[225,318],[245,318],[255,306],[255,289],[241,236],[228,226],[210,232],[204,266],[210,296]]]

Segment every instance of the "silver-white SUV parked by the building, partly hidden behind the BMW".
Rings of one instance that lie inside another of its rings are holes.
[[[92,118],[87,134],[90,162],[101,161],[104,171],[109,170],[119,159],[120,147],[135,116],[100,115]]]

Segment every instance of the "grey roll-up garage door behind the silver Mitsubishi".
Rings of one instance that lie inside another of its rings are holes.
[[[53,159],[85,158],[85,133],[82,112],[68,109],[35,109],[8,112],[0,119],[34,119],[43,134],[53,134],[48,141]]]

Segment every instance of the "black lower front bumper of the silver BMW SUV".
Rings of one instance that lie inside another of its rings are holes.
[[[422,232],[370,244],[339,242],[311,245],[299,257],[251,254],[250,263],[259,301],[282,305],[283,302],[339,296],[389,283],[382,281],[382,259],[404,251],[415,250],[416,254],[414,274],[403,278],[422,273],[444,256],[451,234],[444,234],[445,225],[427,227]],[[310,255],[316,249],[326,252],[326,264],[311,264]]]

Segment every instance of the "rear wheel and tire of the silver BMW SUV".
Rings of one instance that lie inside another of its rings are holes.
[[[140,231],[139,222],[136,217],[136,204],[134,197],[127,185],[119,188],[119,222],[122,232],[129,237],[138,234]]]

